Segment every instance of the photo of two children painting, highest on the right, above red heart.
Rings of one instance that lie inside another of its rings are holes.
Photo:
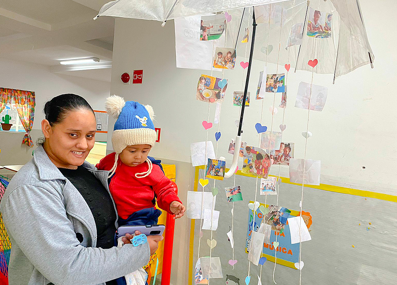
[[[332,14],[310,8],[307,22],[307,35],[314,38],[331,37]]]

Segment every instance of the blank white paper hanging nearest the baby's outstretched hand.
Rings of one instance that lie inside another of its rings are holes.
[[[204,198],[204,199],[202,199]],[[214,198],[214,199],[212,199]],[[202,203],[202,211],[201,209]],[[211,192],[198,192],[198,191],[187,191],[187,210],[186,216],[189,219],[201,219],[204,218],[204,210],[215,209],[216,196],[214,197]],[[211,207],[212,206],[212,207]],[[201,212],[201,214],[200,214]]]

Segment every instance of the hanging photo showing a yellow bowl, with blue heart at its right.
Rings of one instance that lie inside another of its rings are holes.
[[[198,78],[196,99],[207,103],[222,102],[225,98],[226,88],[227,79],[202,74]]]

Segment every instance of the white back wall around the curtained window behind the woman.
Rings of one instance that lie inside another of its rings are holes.
[[[104,100],[110,94],[110,82],[50,73],[48,66],[0,58],[0,86],[34,91],[36,94],[33,140],[40,137],[44,104],[49,99],[64,93],[79,94],[93,109],[104,110]],[[72,73],[72,71],[71,71]],[[39,131],[40,130],[40,131]],[[31,159],[35,148],[21,145],[23,133],[0,132],[0,164],[25,164]],[[106,140],[101,134],[96,140]],[[4,143],[7,142],[7,143]]]

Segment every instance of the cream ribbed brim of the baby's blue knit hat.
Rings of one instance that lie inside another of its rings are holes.
[[[156,131],[150,128],[114,130],[112,144],[114,151],[121,153],[127,145],[148,144],[154,146],[156,138]]]

